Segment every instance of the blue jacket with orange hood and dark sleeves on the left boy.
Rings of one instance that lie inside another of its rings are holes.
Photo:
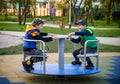
[[[24,36],[25,39],[32,39],[32,40],[43,40],[44,42],[52,41],[51,37],[44,38],[43,36],[47,36],[48,33],[41,33],[40,30],[36,29],[34,26],[27,26],[26,27],[26,34]],[[35,49],[36,42],[23,42],[24,50]]]

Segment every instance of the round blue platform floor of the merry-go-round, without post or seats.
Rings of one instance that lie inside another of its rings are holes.
[[[72,65],[72,64],[64,64],[64,69],[59,69],[58,64],[46,64],[46,72],[44,73],[42,70],[42,65],[35,64],[33,71],[28,72],[31,74],[39,74],[39,75],[89,75],[89,74],[95,74],[101,71],[100,68],[96,69],[87,69],[84,73],[83,66],[81,65]],[[23,72],[26,72],[24,68],[22,68]]]

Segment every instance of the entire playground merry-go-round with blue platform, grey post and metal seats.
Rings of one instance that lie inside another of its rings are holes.
[[[31,74],[38,74],[38,75],[55,75],[55,76],[73,76],[73,75],[89,75],[89,74],[95,74],[101,71],[99,68],[99,41],[98,40],[89,40],[85,42],[85,50],[84,55],[78,55],[78,57],[84,58],[83,65],[72,65],[72,64],[64,64],[64,42],[67,36],[65,35],[59,35],[58,36],[58,64],[46,64],[45,61],[45,43],[41,40],[30,40],[30,39],[24,39],[24,41],[34,41],[34,42],[40,42],[40,49],[43,50],[43,63],[41,64],[34,64],[34,70],[31,72]],[[97,42],[98,48],[96,53],[86,53],[86,44],[88,42]],[[28,55],[28,56],[34,56],[34,55]],[[23,60],[25,61],[25,58],[28,57],[24,55]],[[36,55],[37,57],[39,55]],[[35,56],[34,56],[35,57]],[[39,56],[40,57],[40,56]],[[86,65],[86,57],[96,57],[96,67],[93,69],[85,69]],[[23,72],[26,72],[24,68],[22,68]]]

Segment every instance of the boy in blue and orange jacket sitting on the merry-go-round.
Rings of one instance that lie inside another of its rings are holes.
[[[42,29],[44,24],[44,21],[40,18],[35,18],[32,21],[32,26],[26,27],[26,34],[24,36],[25,39],[31,39],[31,40],[43,40],[44,42],[52,41],[54,37],[43,37],[47,36],[48,33],[42,33],[40,30]],[[36,42],[29,42],[24,41],[23,42],[23,52],[25,55],[42,55],[43,52],[40,49],[37,49]],[[30,59],[27,59],[26,61],[23,61],[23,67],[27,72],[30,72],[30,70],[34,70],[33,63],[43,61],[43,57],[31,57]]]

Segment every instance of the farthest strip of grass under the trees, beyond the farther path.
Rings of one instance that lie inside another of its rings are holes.
[[[59,17],[56,16],[53,19],[50,18],[50,16],[39,16],[39,18],[44,19],[47,22],[59,24],[61,18],[63,18],[64,23],[68,25],[68,17]],[[33,18],[26,18],[26,22],[31,22]],[[18,21],[18,16],[15,15],[8,15],[7,19],[5,18],[5,15],[0,15],[0,21],[12,21],[16,22]],[[91,25],[90,21],[88,21],[89,25]],[[106,20],[94,20],[94,26],[95,27],[102,27],[102,28],[118,28],[119,23],[117,21],[111,21],[110,24],[107,24]]]

